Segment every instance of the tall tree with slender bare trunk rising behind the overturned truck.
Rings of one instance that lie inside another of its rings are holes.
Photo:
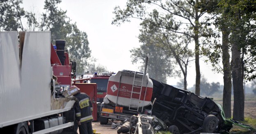
[[[149,14],[147,11],[152,8],[155,8],[160,15],[165,16],[164,18],[167,20],[174,20],[162,28],[191,37],[194,40],[196,94],[200,95],[199,38],[208,35],[209,29],[199,19],[206,13],[206,11],[201,11],[200,8],[203,5],[206,6],[207,3],[200,0],[165,0],[164,2],[162,0],[128,0],[126,9],[115,7],[114,13],[116,16],[112,24],[129,22],[130,18],[145,20],[145,16]],[[152,26],[158,27],[159,25],[152,23]]]

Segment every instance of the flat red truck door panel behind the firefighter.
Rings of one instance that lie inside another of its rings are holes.
[[[77,86],[81,92],[89,95],[92,103],[92,116],[94,121],[97,121],[97,84],[96,83],[73,83],[73,86]]]

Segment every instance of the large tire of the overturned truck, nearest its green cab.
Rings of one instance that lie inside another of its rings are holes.
[[[203,121],[203,132],[214,133],[218,128],[219,120],[216,116],[210,114]]]

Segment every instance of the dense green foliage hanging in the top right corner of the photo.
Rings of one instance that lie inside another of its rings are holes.
[[[230,39],[239,44],[245,79],[250,81],[256,78],[256,1],[220,0],[218,5],[225,18],[219,26],[230,26]]]

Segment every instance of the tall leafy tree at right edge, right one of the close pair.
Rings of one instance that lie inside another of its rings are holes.
[[[231,71],[234,91],[233,119],[244,120],[243,79],[256,77],[256,1],[220,0],[222,15],[230,26]]]

